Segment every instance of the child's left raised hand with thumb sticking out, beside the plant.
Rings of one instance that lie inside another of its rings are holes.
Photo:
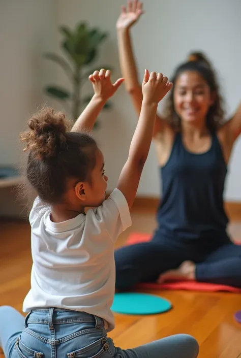
[[[115,83],[111,82],[111,71],[100,70],[95,71],[93,75],[89,76],[89,80],[93,84],[95,96],[102,101],[107,101],[124,82],[124,78],[119,78]]]

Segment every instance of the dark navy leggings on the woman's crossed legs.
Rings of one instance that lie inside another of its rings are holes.
[[[159,239],[122,247],[115,251],[115,286],[123,290],[155,282],[160,274],[190,260],[196,264],[197,281],[241,287],[241,246],[231,242],[212,246]]]

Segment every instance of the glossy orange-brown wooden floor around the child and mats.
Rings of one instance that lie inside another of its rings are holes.
[[[132,227],[120,236],[117,245],[122,245],[131,231],[152,233],[155,227],[152,210],[135,210],[132,218]],[[241,220],[230,225],[230,232],[235,239],[241,239]],[[11,305],[21,311],[29,289],[31,266],[28,223],[0,221],[0,305]],[[169,299],[174,308],[153,316],[116,314],[116,328],[110,333],[116,345],[130,348],[168,335],[188,333],[199,342],[200,358],[241,357],[241,324],[233,319],[234,312],[241,310],[241,295],[168,290],[155,294]]]

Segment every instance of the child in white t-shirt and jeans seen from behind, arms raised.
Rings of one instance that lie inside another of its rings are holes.
[[[117,187],[105,200],[104,157],[86,133],[107,99],[110,71],[90,80],[92,101],[67,132],[64,114],[44,109],[21,135],[29,151],[27,179],[38,192],[29,221],[33,269],[24,319],[11,307],[0,309],[0,339],[6,358],[136,357],[194,358],[194,338],[177,335],[136,349],[116,348],[107,332],[115,289],[114,242],[131,225],[133,204],[152,140],[159,101],[172,84],[145,71],[140,118]],[[88,210],[85,210],[87,209]]]

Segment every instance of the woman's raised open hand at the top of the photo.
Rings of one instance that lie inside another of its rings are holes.
[[[116,28],[125,29],[131,27],[142,14],[142,3],[139,0],[129,0],[127,7],[122,6],[122,13],[116,22]]]

